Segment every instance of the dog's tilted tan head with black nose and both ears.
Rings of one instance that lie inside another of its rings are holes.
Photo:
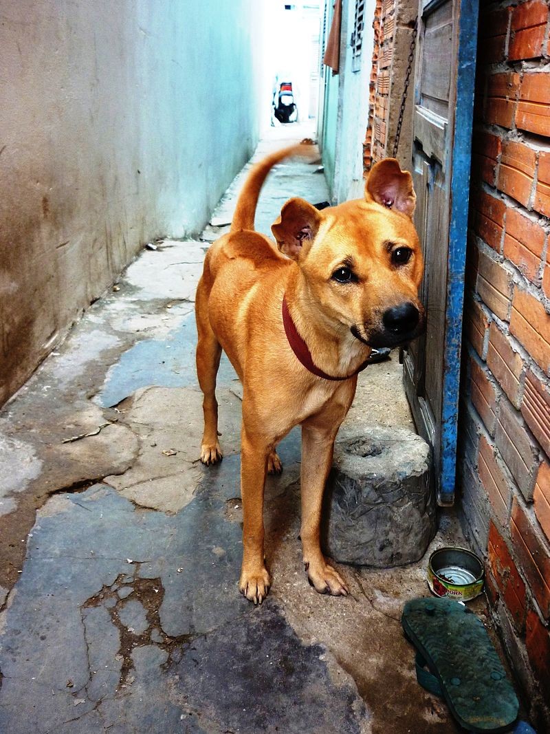
[[[271,227],[316,308],[369,346],[398,346],[422,332],[415,204],[411,174],[385,159],[370,171],[364,200],[318,211],[290,199]]]

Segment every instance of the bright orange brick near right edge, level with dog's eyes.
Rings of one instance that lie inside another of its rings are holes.
[[[537,280],[546,233],[538,222],[524,217],[516,209],[508,209],[504,244],[505,258],[518,266],[533,283]]]

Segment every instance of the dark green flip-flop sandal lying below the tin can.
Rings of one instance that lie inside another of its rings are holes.
[[[419,684],[470,732],[511,731],[518,699],[480,619],[454,599],[414,599],[401,617]]]

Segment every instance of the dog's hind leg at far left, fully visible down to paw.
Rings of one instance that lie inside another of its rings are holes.
[[[208,292],[202,279],[195,297],[197,317],[197,377],[204,399],[202,412],[205,429],[200,446],[200,460],[207,466],[221,461],[223,454],[218,440],[218,401],[216,400],[216,375],[218,374],[221,346],[216,339],[208,318]]]

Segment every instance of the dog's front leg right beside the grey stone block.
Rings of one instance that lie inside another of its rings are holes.
[[[336,431],[338,426],[336,426]],[[334,452],[334,426],[328,429],[315,419],[301,430],[301,542],[309,581],[321,594],[347,595],[342,577],[326,562],[320,549],[320,517],[323,492]]]

